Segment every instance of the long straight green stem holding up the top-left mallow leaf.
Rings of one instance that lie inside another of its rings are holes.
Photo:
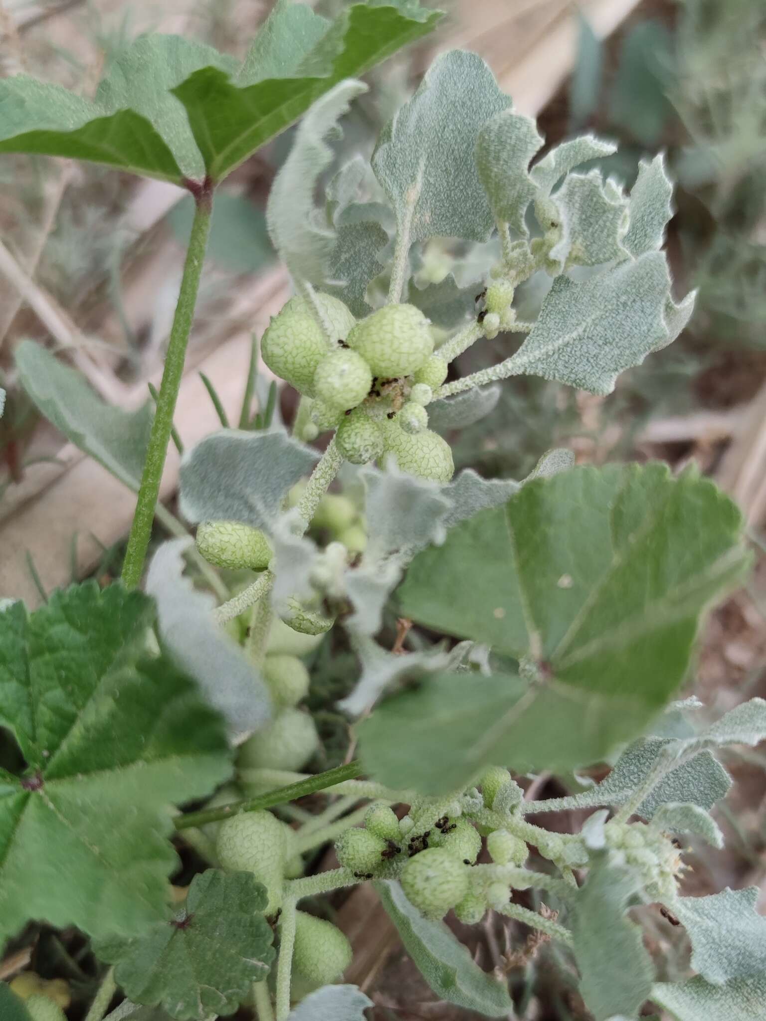
[[[184,276],[181,281],[181,291],[167,344],[162,382],[159,386],[157,407],[151,426],[141,487],[138,491],[136,510],[123,564],[123,582],[127,588],[135,588],[139,584],[144,570],[146,550],[149,546],[151,528],[154,522],[154,508],[159,494],[159,483],[173,430],[173,416],[176,411],[176,401],[184,375],[186,345],[189,342],[189,333],[194,320],[194,306],[197,301],[202,263],[210,231],[211,211],[212,192],[209,187],[206,187],[197,196],[194,223],[184,264]]]

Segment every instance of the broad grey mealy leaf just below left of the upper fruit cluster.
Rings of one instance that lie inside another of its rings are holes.
[[[319,459],[284,429],[223,429],[192,447],[181,461],[181,513],[201,521],[241,521],[271,528],[282,500]]]

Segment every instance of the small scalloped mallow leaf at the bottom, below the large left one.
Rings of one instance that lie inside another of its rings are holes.
[[[177,1021],[233,1014],[262,981],[274,960],[268,897],[249,872],[216,869],[196,875],[170,921],[132,939],[97,940],[97,957],[132,1001],[161,1006]]]

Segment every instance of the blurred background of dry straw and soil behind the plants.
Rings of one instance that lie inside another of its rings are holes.
[[[333,13],[343,4],[318,0],[314,6]],[[136,35],[180,33],[241,56],[270,6],[265,0],[0,0],[0,76],[31,74],[92,96]],[[764,0],[443,0],[433,6],[447,11],[441,28],[370,76],[370,93],[346,118],[334,168],[372,151],[434,53],[475,50],[517,108],[539,118],[546,145],[584,131],[619,140],[619,153],[603,169],[628,188],[642,158],[667,153],[678,186],[668,237],[677,291],[700,292],[680,340],[622,376],[608,398],[541,380],[507,382],[490,416],[450,436],[458,467],[521,478],[552,446],[570,447],[578,460],[591,463],[659,457],[680,468],[695,458],[738,500],[754,548],[762,552]],[[289,146],[288,132],[240,166],[219,195],[176,419],[187,445],[219,427],[200,373],[234,417],[252,332],[259,335],[289,296],[264,220],[270,184]],[[8,391],[0,420],[2,596],[35,605],[73,578],[115,576],[134,505],[129,491],[39,418],[16,383],[13,349],[35,338],[61,352],[109,402],[142,403],[161,370],[191,211],[184,193],[159,182],[64,160],[0,157],[0,382]],[[438,283],[450,268],[448,243],[422,254],[421,276]],[[523,318],[539,304],[540,286],[535,278],[525,288]],[[501,335],[471,348],[461,374],[506,357],[512,342],[518,341]],[[268,374],[260,378],[262,399]],[[295,394],[281,393],[285,421],[294,407]],[[163,482],[170,501],[177,471],[173,451]],[[753,694],[766,695],[765,615],[759,555],[747,588],[715,614],[703,636],[697,692],[716,715]],[[344,667],[336,659],[319,669],[329,691]],[[317,708],[326,702],[320,698]],[[727,846],[697,856],[688,892],[763,884],[766,875],[766,752],[731,751],[727,759],[738,781],[720,810]],[[562,828],[569,825],[561,821]],[[468,1017],[431,1002],[372,892],[360,888],[339,917],[357,952],[348,980],[376,1001],[376,1021]],[[485,967],[515,967],[499,929],[488,924],[479,935],[462,934]],[[659,952],[666,938],[658,928]],[[57,953],[48,947],[38,962],[48,977],[63,967]],[[6,960],[0,977],[25,966]],[[555,977],[555,962],[541,956],[536,966]],[[552,981],[550,1003],[535,1004],[530,991],[530,1021],[586,1017],[561,982]]]

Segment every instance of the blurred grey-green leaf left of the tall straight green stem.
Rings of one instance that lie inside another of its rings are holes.
[[[15,358],[21,386],[40,414],[129,489],[138,492],[153,402],[147,400],[135,411],[105,404],[79,372],[33,340],[18,345]]]

